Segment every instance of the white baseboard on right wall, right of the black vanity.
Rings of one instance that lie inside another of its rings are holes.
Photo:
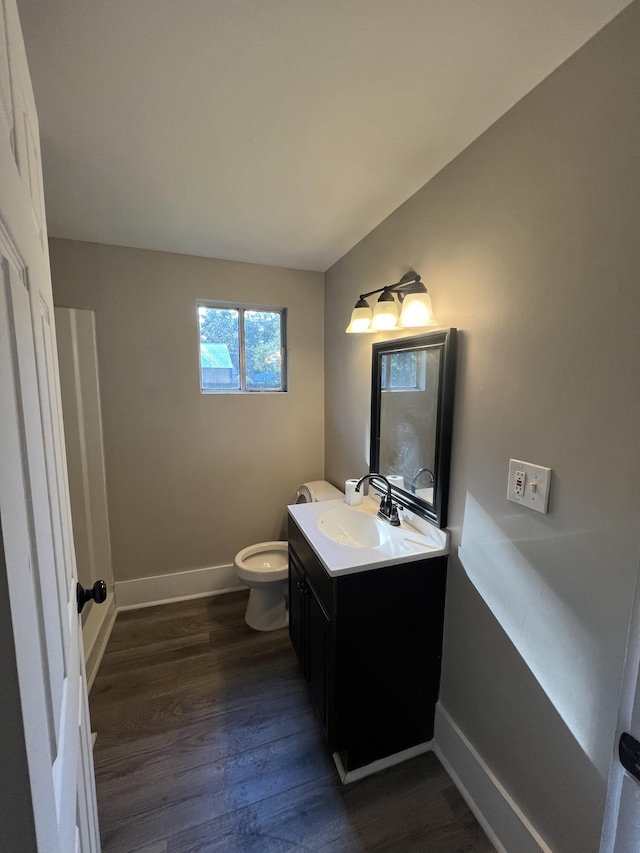
[[[433,751],[498,853],[553,853],[440,703]]]

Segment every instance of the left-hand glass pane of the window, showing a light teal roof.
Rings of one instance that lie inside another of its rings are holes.
[[[240,388],[238,310],[198,307],[200,374],[203,391]]]

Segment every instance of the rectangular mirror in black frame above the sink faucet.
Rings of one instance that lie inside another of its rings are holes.
[[[394,497],[447,523],[456,329],[373,344],[371,471]]]

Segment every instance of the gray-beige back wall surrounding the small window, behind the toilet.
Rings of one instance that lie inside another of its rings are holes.
[[[115,580],[282,538],[324,470],[322,275],[69,240],[50,254],[56,304],[96,312]],[[288,393],[200,393],[197,299],[288,308]]]

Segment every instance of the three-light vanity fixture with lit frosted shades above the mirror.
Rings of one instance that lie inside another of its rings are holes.
[[[376,306],[371,311],[368,296],[379,293]],[[402,310],[398,313],[398,302]],[[417,272],[405,273],[400,281],[379,287],[369,293],[361,293],[360,299],[351,313],[351,322],[346,331],[349,333],[380,332],[394,329],[418,329],[425,326],[438,326],[433,316],[431,298]]]

